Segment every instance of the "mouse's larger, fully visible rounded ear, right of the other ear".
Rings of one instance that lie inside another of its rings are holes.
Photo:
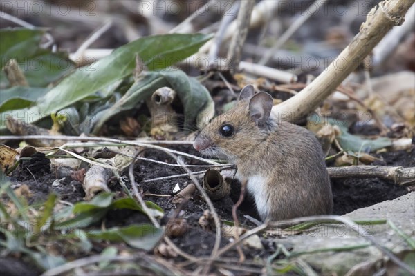
[[[266,92],[255,94],[249,101],[249,115],[257,126],[265,125],[273,108],[273,98]]]

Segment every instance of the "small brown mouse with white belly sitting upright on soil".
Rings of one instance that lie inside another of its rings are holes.
[[[234,177],[246,181],[262,221],[330,214],[333,195],[320,143],[306,128],[271,115],[272,108],[267,92],[245,86],[193,147],[237,166]]]

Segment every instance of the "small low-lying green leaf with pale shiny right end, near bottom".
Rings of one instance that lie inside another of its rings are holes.
[[[163,228],[151,224],[133,224],[124,228],[93,230],[87,233],[90,239],[103,239],[110,242],[125,242],[133,248],[151,250],[163,237]]]

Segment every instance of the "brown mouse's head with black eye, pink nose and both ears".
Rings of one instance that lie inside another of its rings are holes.
[[[255,94],[253,86],[244,87],[236,105],[203,128],[194,148],[205,155],[224,155],[229,161],[252,155],[250,149],[264,141],[276,126],[270,119],[271,108],[273,98],[268,93]]]

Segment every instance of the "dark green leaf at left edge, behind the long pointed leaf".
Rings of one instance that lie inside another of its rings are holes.
[[[1,68],[16,59],[30,86],[45,87],[71,72],[75,64],[66,52],[51,52],[39,44],[46,29],[5,28],[0,30]],[[6,74],[0,72],[1,86],[8,86]]]

